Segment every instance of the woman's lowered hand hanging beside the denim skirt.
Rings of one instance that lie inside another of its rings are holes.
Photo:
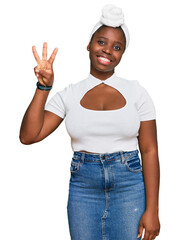
[[[152,240],[159,235],[160,222],[157,213],[146,210],[139,221],[138,236],[140,237],[145,228],[144,238],[142,240]]]

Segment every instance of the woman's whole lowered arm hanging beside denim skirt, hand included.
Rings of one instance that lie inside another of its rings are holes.
[[[142,234],[143,227],[145,227],[144,239],[152,239],[160,231],[158,219],[160,167],[155,120],[141,122],[138,142],[146,192],[146,211],[139,224],[139,233]]]

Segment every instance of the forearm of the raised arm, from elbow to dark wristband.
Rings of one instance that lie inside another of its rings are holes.
[[[30,144],[38,136],[44,121],[44,106],[50,91],[36,89],[34,97],[27,108],[20,129],[20,140]]]

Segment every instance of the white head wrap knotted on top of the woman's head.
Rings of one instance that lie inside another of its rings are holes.
[[[98,30],[98,28],[100,28],[102,25],[106,25],[109,27],[121,26],[121,28],[125,34],[125,37],[126,37],[126,48],[128,47],[130,36],[129,36],[128,28],[124,23],[124,14],[123,14],[121,8],[116,7],[113,4],[107,4],[103,7],[102,16],[101,16],[99,22],[97,22],[96,25],[94,26],[94,28],[90,34],[89,41],[91,40],[94,32],[96,32],[96,30]]]

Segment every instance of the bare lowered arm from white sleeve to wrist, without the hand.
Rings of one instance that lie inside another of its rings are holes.
[[[141,122],[138,142],[146,189],[146,209],[158,212],[160,168],[155,120]]]

